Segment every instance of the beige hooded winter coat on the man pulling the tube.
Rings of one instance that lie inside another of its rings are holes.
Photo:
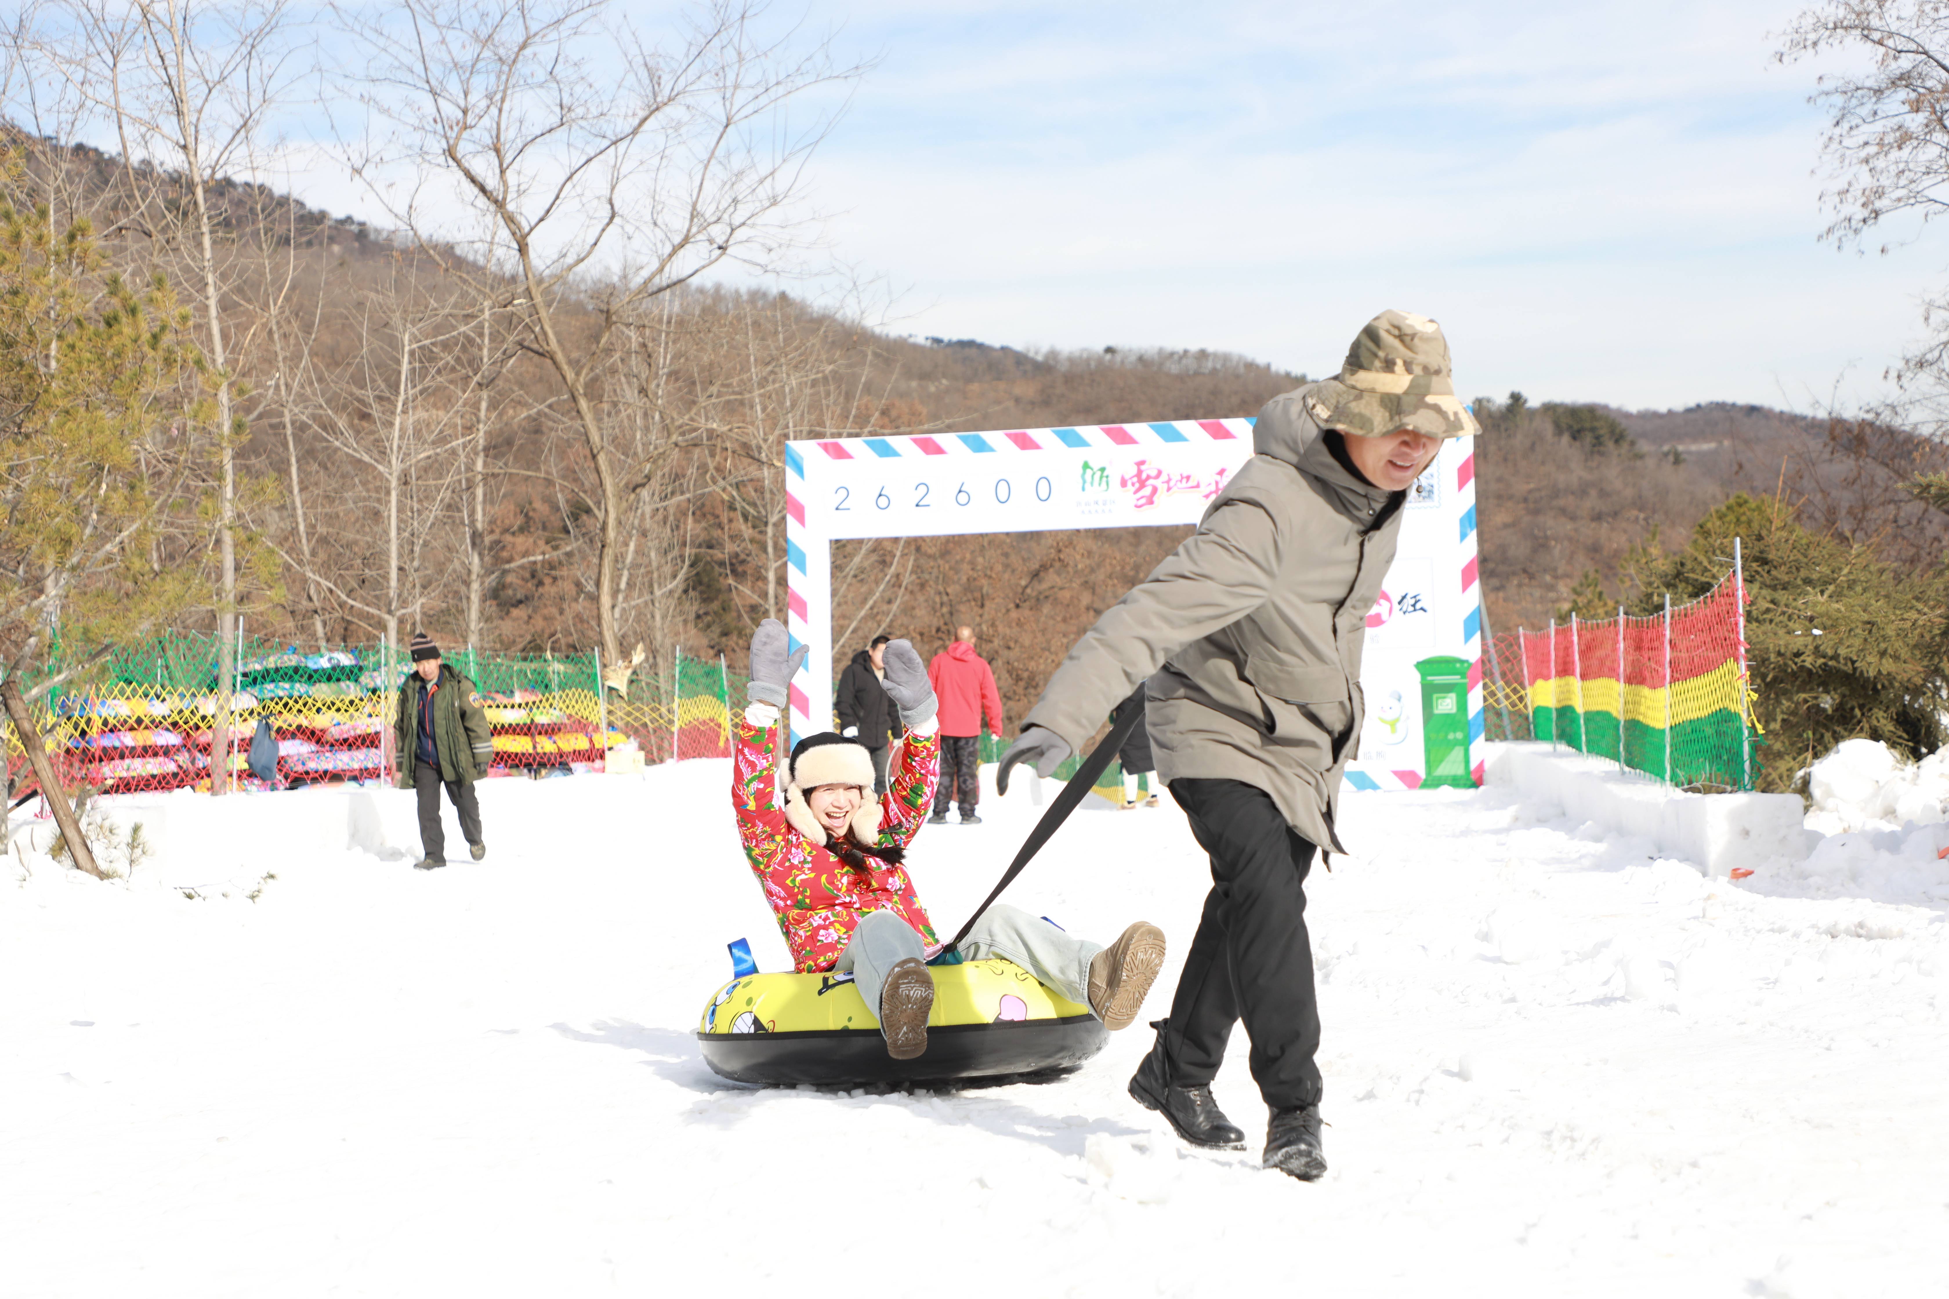
[[[1164,781],[1255,785],[1306,839],[1345,851],[1333,812],[1364,715],[1366,613],[1394,563],[1403,493],[1333,460],[1314,388],[1265,405],[1257,454],[1199,530],[1076,643],[1027,724],[1082,752],[1148,676]]]

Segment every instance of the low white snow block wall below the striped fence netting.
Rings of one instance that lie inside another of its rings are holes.
[[[1489,744],[1491,785],[1514,785],[1573,820],[1651,839],[1707,876],[1801,861],[1809,834],[1797,795],[1694,795],[1618,763],[1549,744]]]

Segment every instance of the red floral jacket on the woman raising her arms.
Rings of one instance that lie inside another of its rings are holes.
[[[737,808],[737,832],[750,872],[778,915],[793,968],[799,974],[830,970],[867,911],[895,911],[930,948],[939,943],[904,867],[867,857],[865,869],[856,871],[826,845],[791,828],[785,812],[772,806],[772,732],[752,726],[743,715],[733,721],[731,806]],[[879,843],[908,847],[914,841],[934,802],[939,771],[939,738],[908,734],[900,746],[900,769],[881,798]]]

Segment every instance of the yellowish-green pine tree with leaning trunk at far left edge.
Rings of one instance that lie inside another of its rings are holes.
[[[0,154],[0,187],[12,162]],[[170,434],[201,415],[185,327],[170,286],[127,284],[86,222],[57,230],[45,206],[0,201],[0,709],[70,859],[96,876],[29,711],[58,676],[23,674],[57,631],[105,650],[189,600],[187,569],[150,549],[172,467],[181,483]]]

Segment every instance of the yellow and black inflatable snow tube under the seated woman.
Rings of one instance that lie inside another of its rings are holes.
[[[746,974],[698,1021],[704,1063],[737,1083],[852,1087],[1066,1073],[1103,1050],[1103,1021],[1008,960],[930,966],[928,1050],[893,1059],[850,974]]]

